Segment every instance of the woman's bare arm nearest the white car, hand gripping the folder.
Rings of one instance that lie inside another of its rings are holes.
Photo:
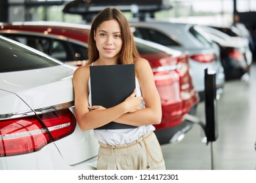
[[[127,112],[139,109],[142,97],[135,97],[133,92],[123,103],[111,108],[93,106],[89,108],[88,80],[89,66],[79,67],[73,76],[75,93],[75,116],[81,130],[95,129],[114,121]]]

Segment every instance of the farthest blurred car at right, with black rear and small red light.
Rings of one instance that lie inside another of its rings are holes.
[[[248,39],[231,37],[222,31],[206,25],[201,25],[200,27],[221,48],[221,63],[226,80],[249,79],[249,68],[253,56],[249,48]]]

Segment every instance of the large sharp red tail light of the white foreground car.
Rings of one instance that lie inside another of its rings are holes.
[[[75,117],[68,109],[47,112],[39,117],[0,121],[0,157],[36,152],[75,129]]]

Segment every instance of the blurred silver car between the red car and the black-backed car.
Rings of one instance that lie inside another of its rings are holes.
[[[198,25],[158,20],[131,21],[130,25],[136,37],[188,52],[192,80],[201,101],[204,99],[204,70],[216,72],[217,97],[220,97],[225,76],[219,46],[207,39]]]

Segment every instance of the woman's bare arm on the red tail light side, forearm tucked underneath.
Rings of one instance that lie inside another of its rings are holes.
[[[160,124],[161,122],[161,100],[152,69],[145,59],[139,59],[136,63],[139,73],[140,90],[144,99],[145,108],[133,113],[126,113],[114,120],[120,124],[148,125]]]

